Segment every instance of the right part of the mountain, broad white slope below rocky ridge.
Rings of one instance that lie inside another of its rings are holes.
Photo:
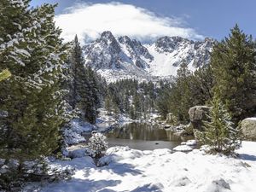
[[[180,37],[159,38],[154,44],[145,45],[154,56],[147,71],[153,76],[175,76],[182,62],[189,64],[189,69],[194,71],[210,61],[212,44],[211,38],[202,42]]]

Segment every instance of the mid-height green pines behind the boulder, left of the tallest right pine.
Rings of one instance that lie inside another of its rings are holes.
[[[168,113],[177,117],[178,122],[189,122],[189,108],[204,105],[212,97],[212,69],[210,66],[198,68],[195,73],[183,63],[177,70],[177,78],[171,84],[160,83],[157,109],[166,119]]]

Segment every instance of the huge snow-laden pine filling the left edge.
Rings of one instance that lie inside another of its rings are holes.
[[[0,2],[0,62],[12,77],[0,84],[0,156],[32,160],[58,148],[65,122],[62,69],[67,46],[55,28],[55,6]],[[3,18],[3,20],[2,20]]]

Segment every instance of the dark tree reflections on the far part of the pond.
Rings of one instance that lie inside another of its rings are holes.
[[[109,132],[107,137],[115,137],[131,140],[159,140],[159,141],[181,141],[178,137],[164,129],[159,129],[158,125],[149,125],[141,123],[131,123],[129,125],[117,126]]]

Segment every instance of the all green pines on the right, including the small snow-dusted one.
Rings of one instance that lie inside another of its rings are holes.
[[[160,91],[160,113],[188,123],[189,108],[211,107],[196,137],[210,153],[233,154],[241,146],[241,120],[256,114],[255,55],[255,40],[236,25],[228,38],[214,44],[209,65],[194,73],[186,63],[180,66],[176,79]]]

